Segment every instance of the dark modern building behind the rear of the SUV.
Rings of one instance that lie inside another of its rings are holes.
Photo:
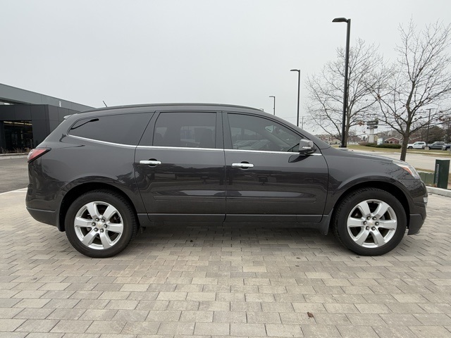
[[[0,83],[0,153],[34,148],[64,116],[87,109],[92,107]]]

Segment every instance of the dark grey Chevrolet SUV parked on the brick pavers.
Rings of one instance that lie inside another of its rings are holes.
[[[169,221],[296,223],[381,255],[426,218],[426,187],[411,165],[334,149],[243,106],[76,113],[28,163],[27,210],[90,257],[114,256],[140,227]]]

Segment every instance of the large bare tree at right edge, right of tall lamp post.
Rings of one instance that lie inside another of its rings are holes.
[[[451,26],[435,23],[417,32],[411,20],[407,28],[400,26],[400,33],[395,71],[385,82],[381,80],[374,93],[381,107],[380,120],[402,135],[404,161],[410,135],[431,121],[438,122],[444,112],[433,107],[451,96],[451,57],[447,54]],[[426,112],[428,108],[432,109]]]

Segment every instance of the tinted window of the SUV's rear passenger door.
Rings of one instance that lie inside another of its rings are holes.
[[[214,148],[216,113],[160,113],[155,123],[154,146]]]

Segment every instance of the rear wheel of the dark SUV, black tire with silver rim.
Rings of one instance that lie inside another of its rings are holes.
[[[97,211],[98,222],[97,217],[91,216],[87,206],[92,211]],[[102,221],[104,215],[105,219]],[[77,227],[76,217],[79,223]],[[137,218],[123,196],[109,190],[94,190],[78,197],[70,205],[65,227],[70,244],[78,252],[93,258],[106,258],[123,251],[135,237]]]

